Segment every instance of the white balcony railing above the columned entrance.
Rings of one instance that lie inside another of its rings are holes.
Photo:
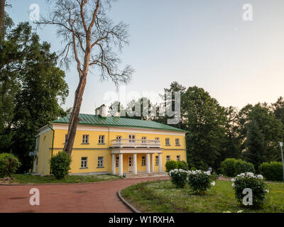
[[[111,140],[112,148],[160,148],[160,140]]]

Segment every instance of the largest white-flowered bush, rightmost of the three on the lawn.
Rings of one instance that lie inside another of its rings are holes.
[[[266,201],[266,194],[268,189],[263,181],[262,175],[254,175],[253,172],[245,172],[237,175],[231,179],[232,187],[234,187],[236,201],[243,203],[243,198],[246,194],[243,194],[244,189],[251,189],[253,193],[253,206],[262,206]]]

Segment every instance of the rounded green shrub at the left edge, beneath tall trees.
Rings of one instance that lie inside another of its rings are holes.
[[[21,166],[18,157],[10,153],[0,154],[0,177],[11,177]]]

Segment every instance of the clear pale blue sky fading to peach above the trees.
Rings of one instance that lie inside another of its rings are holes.
[[[44,0],[8,0],[15,23],[29,21],[29,6]],[[244,4],[253,6],[253,21],[244,21]],[[243,107],[275,102],[284,96],[283,0],[119,0],[109,12],[129,24],[130,45],[121,60],[135,72],[127,92],[160,92],[174,80],[197,85],[222,106]],[[30,21],[31,22],[31,21]],[[61,50],[56,28],[38,30],[53,51]],[[65,106],[72,106],[78,75],[66,71],[70,87]],[[89,74],[81,113],[93,114],[104,94],[115,91],[111,81]]]

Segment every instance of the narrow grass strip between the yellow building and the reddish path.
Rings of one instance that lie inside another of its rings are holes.
[[[110,179],[119,179],[114,175],[69,175],[65,179],[55,179],[54,176],[12,175],[12,184],[62,184],[102,182]]]

